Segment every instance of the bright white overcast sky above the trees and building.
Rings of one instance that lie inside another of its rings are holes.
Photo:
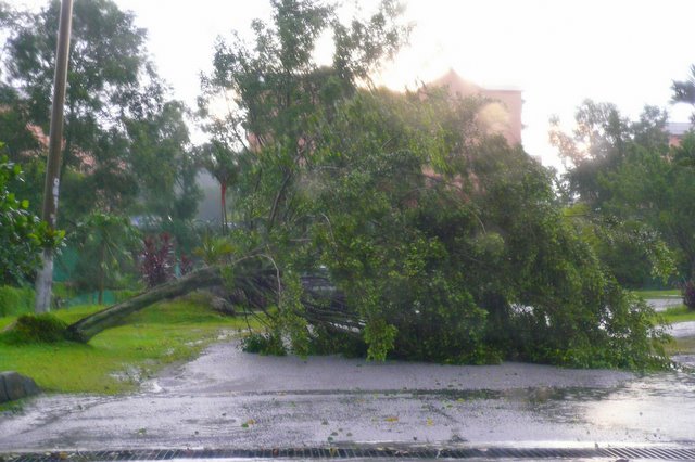
[[[10,0],[43,4],[42,0]],[[199,91],[217,36],[248,34],[267,18],[265,0],[115,0],[149,30],[149,50],[175,95]],[[348,0],[350,2],[350,0]],[[372,0],[359,2],[365,10]],[[570,121],[586,98],[616,103],[636,117],[644,104],[669,108],[674,121],[691,108],[671,106],[673,79],[695,64],[693,0],[409,0],[410,46],[384,69],[392,88],[415,87],[448,68],[482,86],[522,90],[523,145],[558,165],[547,144],[548,118]]]

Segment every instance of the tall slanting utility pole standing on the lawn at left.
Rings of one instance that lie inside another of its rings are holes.
[[[62,0],[58,27],[58,50],[55,51],[55,76],[53,78],[53,104],[51,108],[51,132],[49,136],[46,183],[43,184],[43,211],[41,218],[51,230],[58,226],[58,194],[60,190],[61,151],[63,147],[63,106],[67,86],[67,63],[70,57],[70,35],[73,20],[73,0]],[[53,249],[45,248],[43,267],[36,274],[36,312],[47,312],[51,308],[53,288]]]

